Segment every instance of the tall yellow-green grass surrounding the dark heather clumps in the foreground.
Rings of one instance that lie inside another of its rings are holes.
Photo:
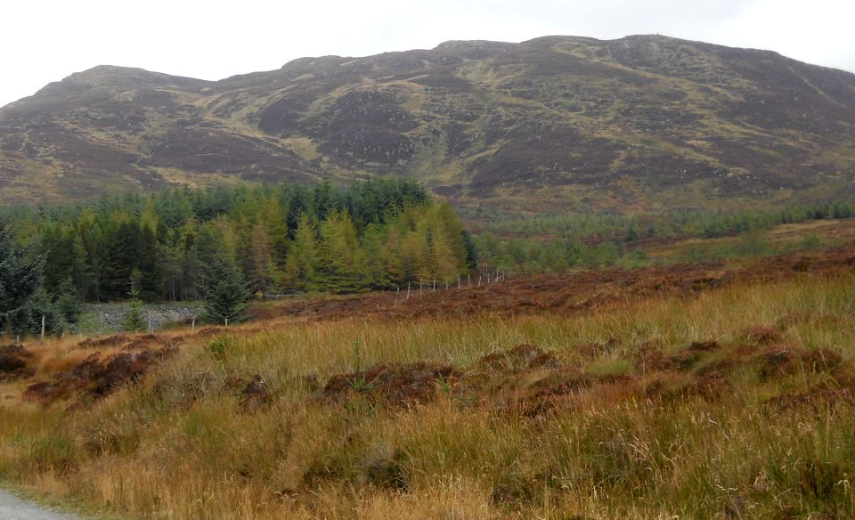
[[[777,326],[786,344],[841,354],[843,368],[775,378],[733,370],[714,398],[637,391],[654,383],[632,362],[646,345],[741,345],[761,325]],[[573,315],[282,320],[227,336],[214,346],[192,339],[140,384],[82,407],[0,405],[0,476],[134,518],[855,516],[847,394],[795,409],[764,404],[855,388],[851,276]],[[331,376],[376,363],[473,374],[485,354],[524,343],[573,370],[632,379],[533,417],[495,406],[489,393],[439,392],[403,408],[317,398]],[[590,343],[615,346],[591,356],[579,348]],[[75,354],[52,349],[44,356],[55,364]],[[250,410],[240,390],[256,374],[273,402]]]

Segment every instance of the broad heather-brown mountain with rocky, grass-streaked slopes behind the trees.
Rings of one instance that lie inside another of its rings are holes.
[[[855,194],[855,75],[659,36],[446,42],[202,81],[96,67],[0,109],[0,199],[373,175],[566,212]]]

